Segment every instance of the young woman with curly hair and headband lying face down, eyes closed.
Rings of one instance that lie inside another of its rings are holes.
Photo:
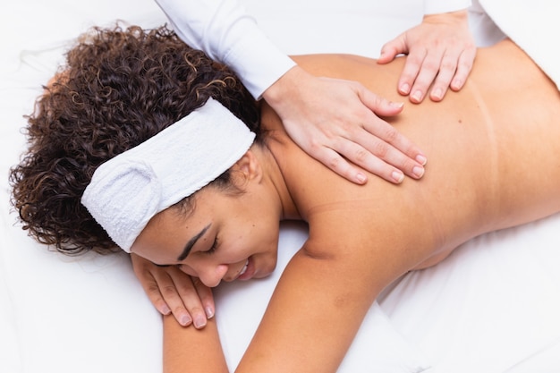
[[[296,60],[385,97],[397,95],[403,67]],[[215,100],[258,140],[250,145]],[[387,284],[481,233],[560,210],[560,95],[511,41],[479,50],[461,92],[389,118],[430,159],[421,181],[352,184],[301,151],[268,106],[260,114],[231,73],[165,30],[99,31],[72,49],[30,116],[14,204],[30,233],[59,250],[116,242],[210,287],[269,275],[279,221],[306,221],[309,240],[238,372],[335,371]],[[182,142],[191,148],[163,156]],[[214,323],[198,331],[165,318],[165,369],[226,371]]]

